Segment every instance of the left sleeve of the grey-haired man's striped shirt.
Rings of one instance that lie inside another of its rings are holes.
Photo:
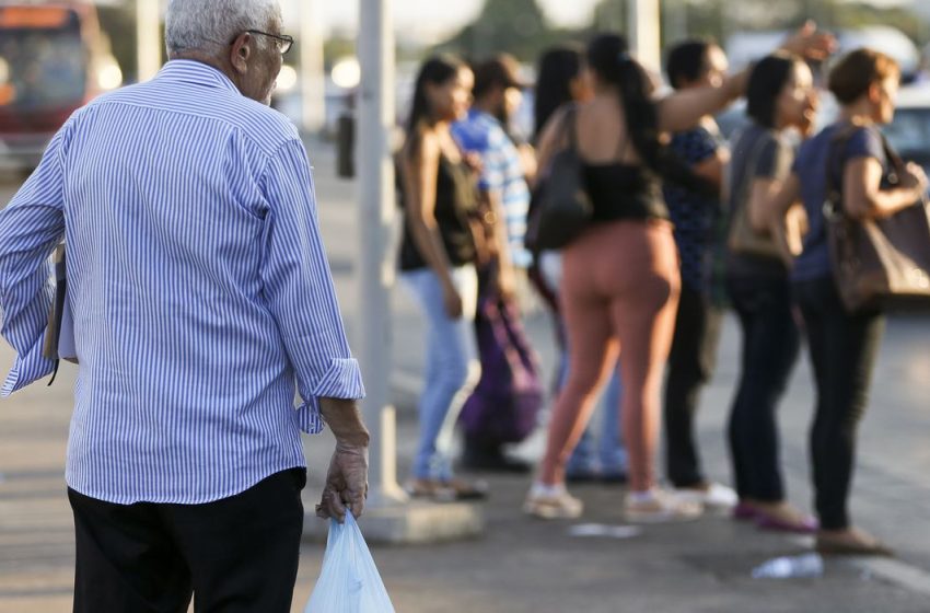
[[[49,374],[43,356],[54,296],[49,255],[65,236],[63,149],[69,124],[51,139],[42,161],[0,211],[0,334],[16,351],[0,396]]]

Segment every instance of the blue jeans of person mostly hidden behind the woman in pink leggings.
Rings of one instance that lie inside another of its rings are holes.
[[[539,271],[549,287],[558,292],[561,285],[561,254],[556,252],[544,252],[539,265]],[[568,346],[560,348],[559,356],[559,389],[568,380]],[[598,410],[602,415],[601,436],[596,443],[591,426],[584,429],[581,440],[571,453],[566,464],[566,473],[572,474],[597,472],[600,465],[601,474],[616,475],[627,472],[627,451],[624,448],[623,435],[620,432],[620,396],[623,395],[623,383],[620,382],[620,365],[614,369],[611,382],[601,401]]]

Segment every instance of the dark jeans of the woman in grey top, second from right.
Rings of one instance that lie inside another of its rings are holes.
[[[801,335],[786,278],[731,276],[730,300],[743,331],[740,383],[730,413],[730,453],[740,498],[784,499],[778,402],[798,361]]]

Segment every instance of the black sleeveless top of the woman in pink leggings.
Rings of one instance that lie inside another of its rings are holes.
[[[659,177],[633,164],[583,164],[584,186],[592,205],[592,223],[623,219],[670,219]]]

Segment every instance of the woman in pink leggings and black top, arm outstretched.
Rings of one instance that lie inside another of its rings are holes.
[[[805,28],[786,46],[806,54],[819,43]],[[663,521],[701,510],[658,488],[654,474],[662,370],[679,286],[661,182],[708,189],[661,143],[660,134],[686,129],[742,95],[746,73],[719,86],[653,102],[651,79],[625,49],[625,41],[616,35],[591,42],[588,68],[594,99],[553,117],[539,146],[545,167],[551,153],[577,138],[594,209],[590,227],[563,251],[561,307],[569,336],[569,380],[553,409],[546,453],[524,505],[527,513],[545,519],[581,514],[581,501],[565,488],[565,463],[620,350],[628,519]]]

